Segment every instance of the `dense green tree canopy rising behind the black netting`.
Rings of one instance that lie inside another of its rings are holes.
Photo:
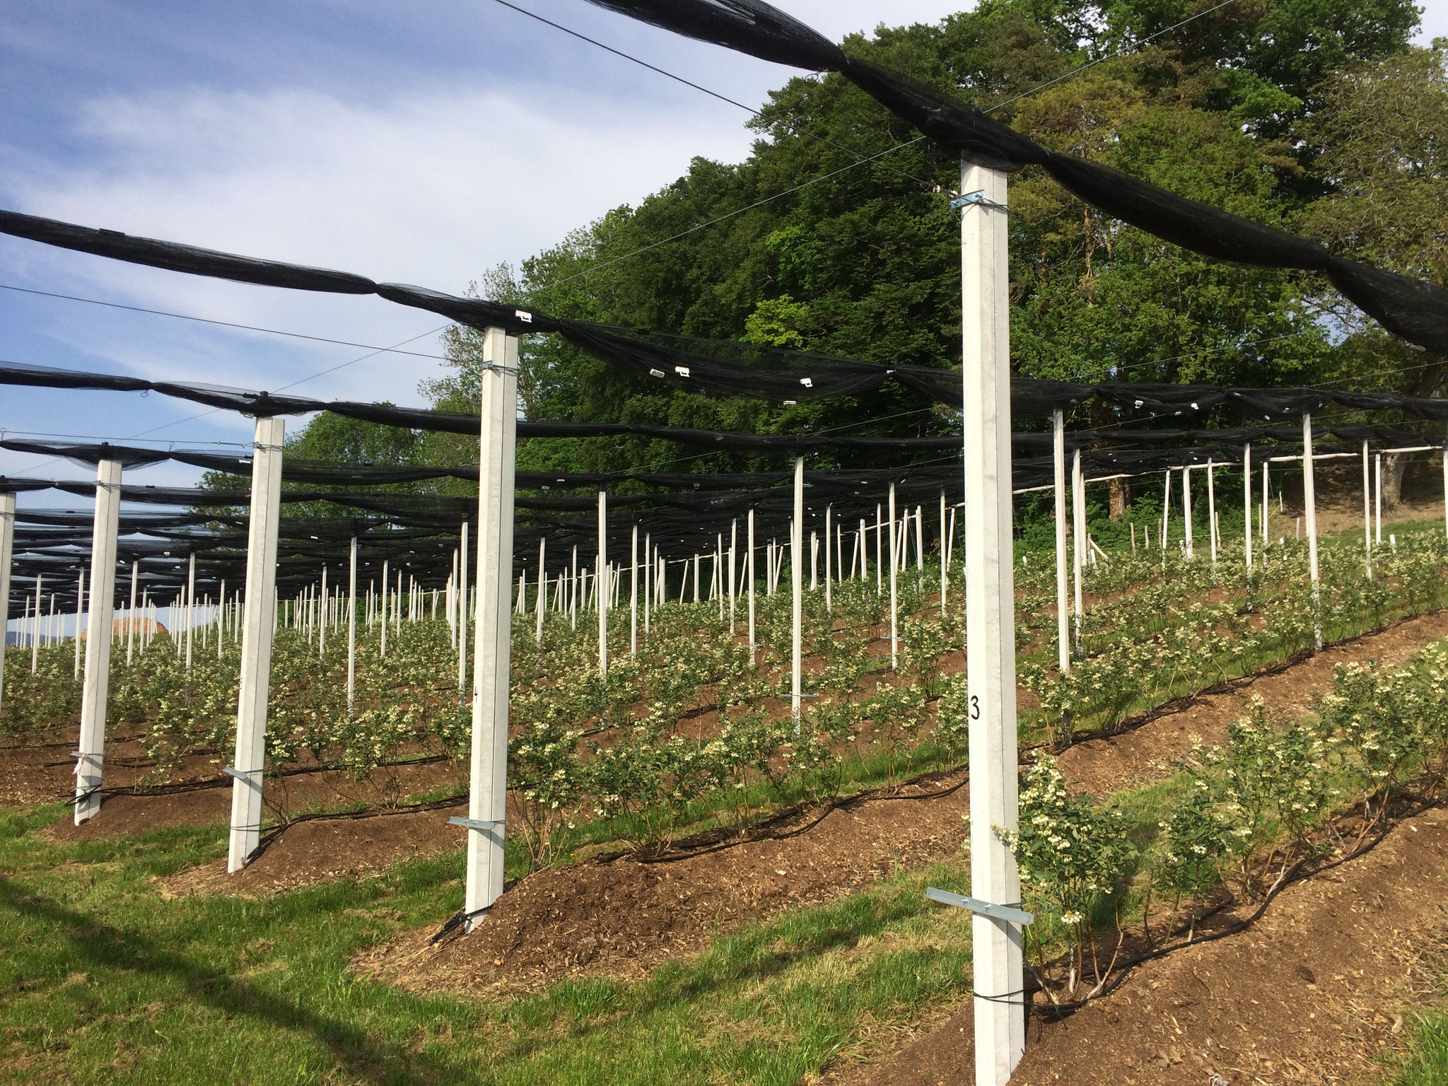
[[[938,25],[853,36],[846,49],[995,109],[1054,149],[1441,281],[1448,84],[1442,54],[1409,45],[1416,23],[1409,0],[983,0]],[[959,164],[837,75],[789,80],[752,127],[744,162],[695,159],[637,207],[521,268],[487,272],[478,294],[611,324],[957,366]],[[1035,168],[1012,180],[1011,207],[1018,374],[1339,379],[1425,394],[1442,381],[1318,277],[1213,264],[1100,216]],[[424,388],[439,405],[476,410],[479,339],[446,333],[455,371]],[[524,355],[531,418],[959,426],[904,391],[778,405],[660,394],[556,337],[529,337]],[[456,462],[475,446],[429,437],[417,455]],[[518,462],[765,466],[615,439],[531,440]]]

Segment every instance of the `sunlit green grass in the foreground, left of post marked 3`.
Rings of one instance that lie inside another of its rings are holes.
[[[462,856],[258,901],[164,899],[224,831],[58,844],[67,808],[0,811],[0,1082],[794,1083],[969,992],[969,917],[922,898],[963,862],[717,937],[646,980],[518,999],[359,980],[442,924]]]

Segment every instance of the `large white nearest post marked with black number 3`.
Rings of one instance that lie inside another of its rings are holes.
[[[1006,175],[964,165],[961,211],[966,682],[970,689],[970,892],[1009,905],[1021,882],[999,830],[1018,825],[1011,527],[1011,301]],[[972,918],[976,1086],[1003,1086],[1025,1050],[1021,930]]]

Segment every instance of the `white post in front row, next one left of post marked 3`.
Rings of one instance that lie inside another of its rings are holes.
[[[472,778],[463,927],[471,931],[502,893],[508,795],[508,665],[513,607],[513,476],[518,339],[491,327],[482,340],[478,450],[478,613],[473,637]],[[602,543],[599,542],[599,547]],[[599,597],[599,613],[604,604]]]

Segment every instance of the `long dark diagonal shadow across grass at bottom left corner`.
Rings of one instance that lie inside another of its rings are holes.
[[[0,876],[0,905],[46,921],[64,934],[75,953],[100,967],[126,969],[168,977],[185,993],[224,1015],[252,1018],[288,1031],[311,1034],[342,1063],[356,1082],[449,1085],[472,1082],[416,1048],[376,1044],[363,1031],[336,1018],[319,1015],[300,1003],[258,989],[245,980],[193,961],[155,944],[146,935],[100,924],[58,902],[25,892]]]

